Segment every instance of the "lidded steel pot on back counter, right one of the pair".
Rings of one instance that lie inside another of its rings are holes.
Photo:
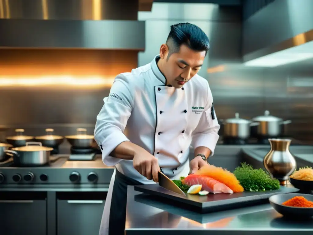
[[[269,115],[269,111],[264,112],[264,116],[252,118],[254,122],[259,122],[259,126],[252,127],[251,133],[257,138],[277,138],[285,135],[285,127],[291,123],[281,118]]]

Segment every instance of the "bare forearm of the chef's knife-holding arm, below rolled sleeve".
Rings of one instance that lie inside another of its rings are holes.
[[[131,143],[130,141],[124,141],[110,153],[110,156],[125,160],[132,160],[136,152],[140,150],[143,150],[143,148]]]

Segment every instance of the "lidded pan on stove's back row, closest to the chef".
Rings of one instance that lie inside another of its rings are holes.
[[[87,135],[85,128],[77,128],[76,135],[67,135],[65,138],[74,148],[91,148],[94,142],[93,135]]]

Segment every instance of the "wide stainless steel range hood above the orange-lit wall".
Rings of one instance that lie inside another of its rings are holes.
[[[145,50],[152,0],[0,0],[0,48]]]

